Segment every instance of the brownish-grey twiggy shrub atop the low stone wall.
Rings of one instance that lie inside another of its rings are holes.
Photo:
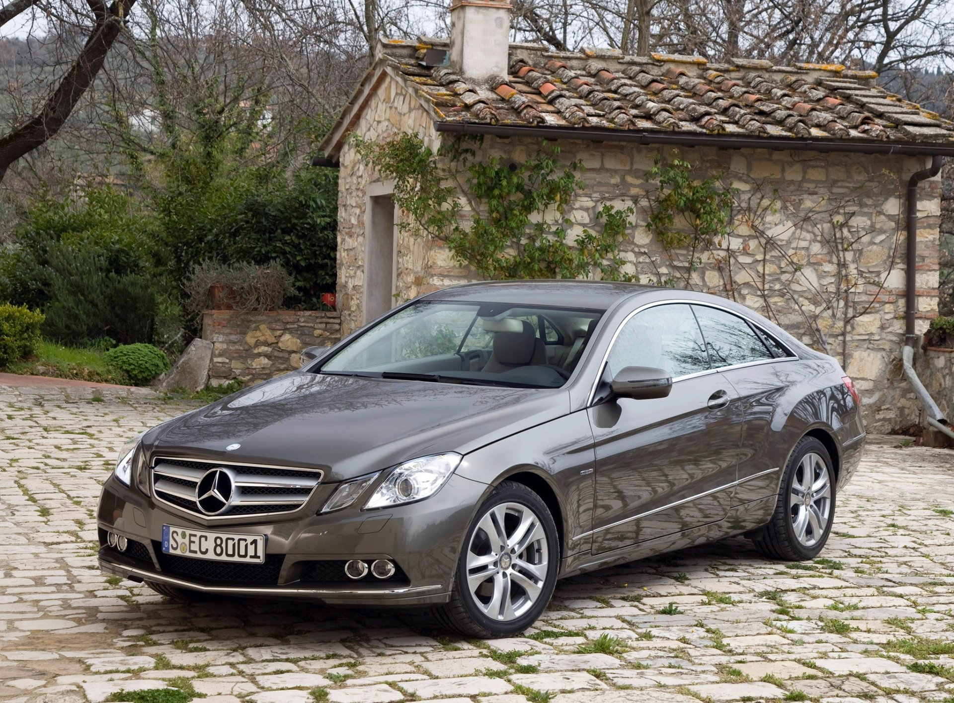
[[[193,266],[183,284],[187,304],[194,312],[216,309],[222,302],[231,309],[279,309],[285,296],[294,290],[292,277],[277,262],[223,265],[205,261]],[[224,301],[215,299],[213,288],[224,289]]]

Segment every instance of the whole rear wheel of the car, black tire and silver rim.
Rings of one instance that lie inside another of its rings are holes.
[[[811,475],[810,483],[806,477]],[[827,485],[822,485],[823,483]],[[814,487],[805,497],[805,486]],[[752,538],[771,559],[803,562],[824,548],[835,522],[835,469],[825,446],[802,437],[785,466],[772,520]]]

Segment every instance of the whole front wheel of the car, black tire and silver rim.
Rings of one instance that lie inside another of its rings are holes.
[[[508,552],[500,549],[496,529],[501,516],[504,542],[515,543]],[[536,622],[550,603],[559,563],[559,536],[547,504],[522,483],[505,480],[467,528],[450,601],[434,616],[443,627],[468,637],[512,637]],[[477,581],[485,574],[484,581]]]

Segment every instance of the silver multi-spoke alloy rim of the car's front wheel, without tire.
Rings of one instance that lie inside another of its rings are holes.
[[[497,621],[524,615],[544,589],[549,553],[540,517],[527,505],[491,507],[467,545],[467,591],[474,604]]]

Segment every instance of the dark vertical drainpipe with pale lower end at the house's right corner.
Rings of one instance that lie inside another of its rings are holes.
[[[918,335],[914,332],[914,319],[918,312],[917,296],[917,266],[915,262],[918,257],[918,183],[927,179],[934,178],[941,173],[941,157],[935,156],[931,159],[931,165],[921,171],[911,174],[907,181],[907,270],[905,271],[905,305],[907,309],[904,312],[904,347],[902,348],[902,362],[904,365],[904,377],[918,394],[924,406],[924,412],[927,413],[927,424],[947,437],[954,439],[954,431],[950,428],[950,423],[944,417],[938,404],[927,389],[918,373],[914,371],[914,346],[917,344]]]

